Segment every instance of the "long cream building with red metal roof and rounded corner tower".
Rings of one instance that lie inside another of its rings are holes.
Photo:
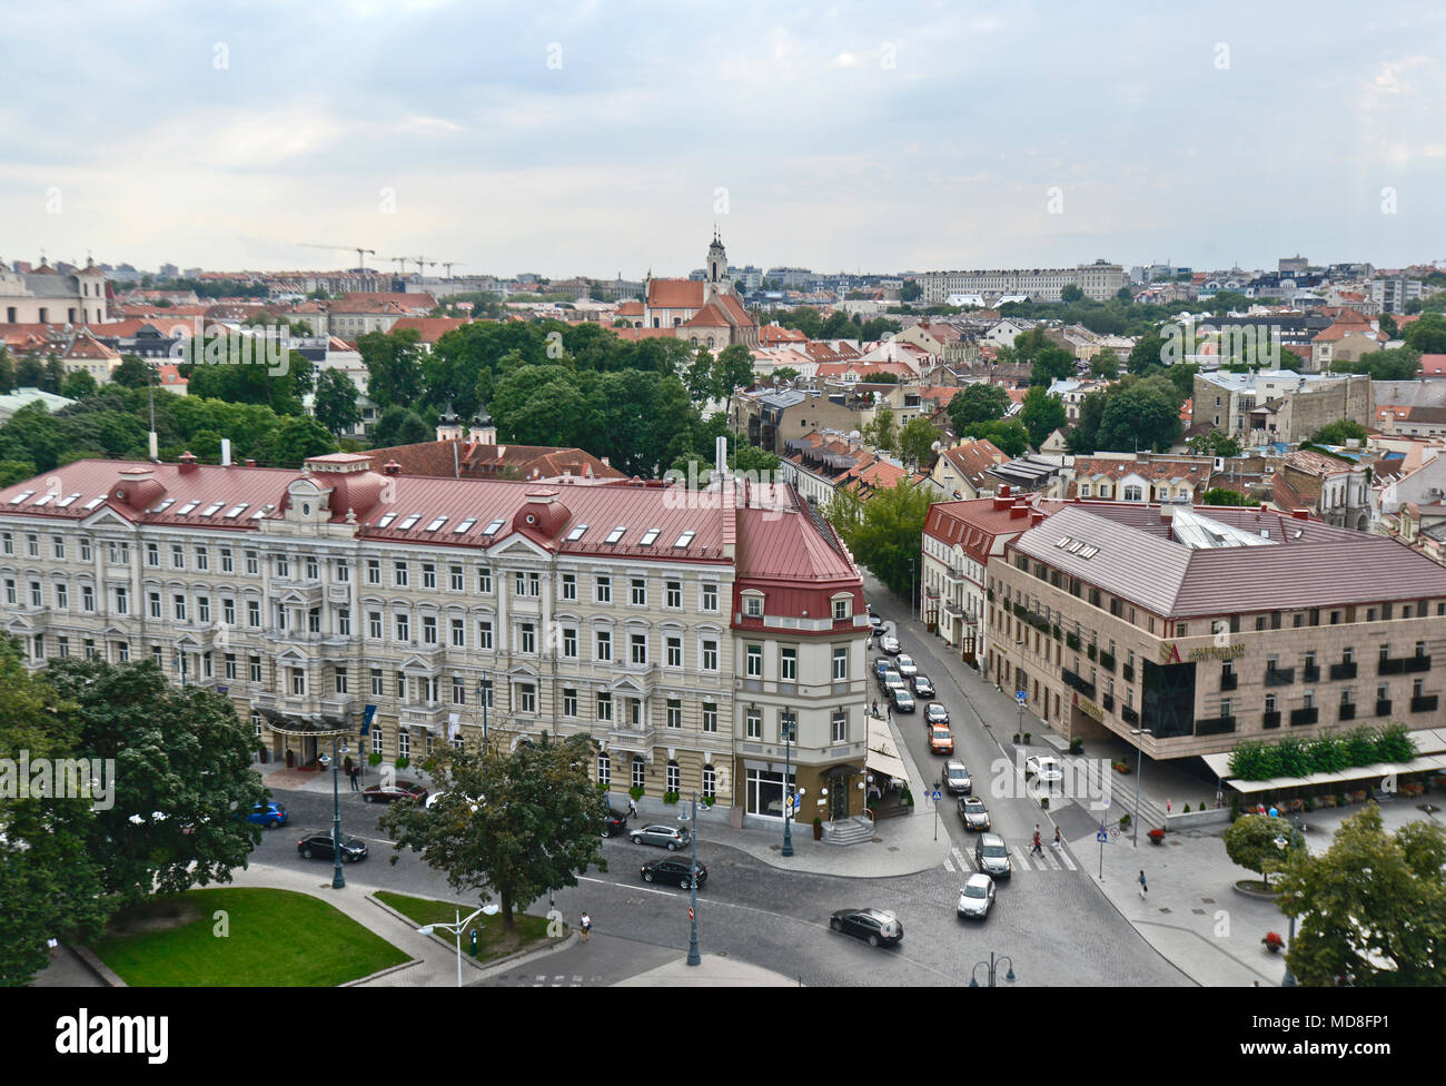
[[[308,722],[386,762],[584,733],[617,792],[766,820],[791,714],[795,784],[862,808],[862,580],[790,487],[87,460],[0,492],[0,590],[35,665],[155,659],[273,759],[321,753]]]

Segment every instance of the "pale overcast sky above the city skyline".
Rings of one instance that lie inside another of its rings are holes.
[[[0,257],[1446,262],[1439,0],[1141,7],[12,6]]]

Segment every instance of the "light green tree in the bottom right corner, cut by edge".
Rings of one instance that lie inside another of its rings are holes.
[[[1419,820],[1387,834],[1381,808],[1368,804],[1340,824],[1326,852],[1290,858],[1277,904],[1300,921],[1285,962],[1303,986],[1446,985],[1440,826]]]

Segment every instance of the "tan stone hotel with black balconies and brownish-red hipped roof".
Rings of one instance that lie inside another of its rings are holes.
[[[1283,513],[1066,506],[989,563],[988,628],[1031,713],[1151,758],[1440,722],[1446,570]]]

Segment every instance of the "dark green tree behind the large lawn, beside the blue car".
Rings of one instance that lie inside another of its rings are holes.
[[[152,661],[68,657],[45,675],[77,706],[77,753],[116,759],[114,805],[87,827],[106,894],[130,904],[228,882],[260,842],[236,813],[266,797],[250,768],[259,745],[231,701],[166,683]]]

